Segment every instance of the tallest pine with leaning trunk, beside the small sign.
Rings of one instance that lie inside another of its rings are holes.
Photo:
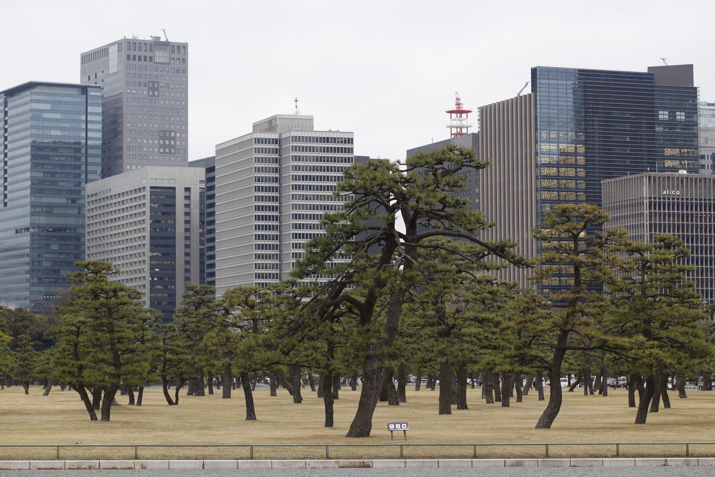
[[[460,238],[482,247],[472,257],[475,261],[495,255],[526,265],[511,251],[512,242],[488,243],[475,237],[491,224],[457,193],[466,185],[463,172],[487,165],[476,159],[473,149],[450,145],[415,154],[404,165],[406,169],[398,162],[369,161],[347,169],[336,195],[354,200],[345,202],[341,212],[325,215],[326,236],[307,243],[305,260],[295,268],[297,279],[317,285],[318,320],[331,320],[330,315],[342,313],[336,311],[342,305],[358,317],[357,333],[365,340],[363,389],[347,437],[370,435],[387,373],[380,363],[389,358],[405,296],[420,272],[418,250],[452,251],[448,246],[427,245],[426,239]],[[405,232],[396,226],[398,213]],[[365,225],[368,221],[371,225]],[[351,257],[350,262],[333,262],[342,256]],[[318,281],[321,275],[331,277],[325,285]],[[360,289],[354,290],[355,285]]]

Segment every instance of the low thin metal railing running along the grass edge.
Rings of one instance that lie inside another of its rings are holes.
[[[549,448],[554,446],[615,446],[616,457],[621,456],[621,446],[685,446],[685,456],[690,456],[690,446],[715,446],[715,442],[585,442],[585,443],[488,443],[488,444],[0,444],[0,448],[56,448],[59,459],[60,448],[134,448],[134,459],[139,458],[139,448],[249,448],[253,458],[254,448],[325,448],[325,458],[330,458],[330,448],[345,447],[390,447],[400,448],[400,458],[405,458],[405,447],[470,447],[472,458],[477,458],[477,448],[543,446],[548,457]]]

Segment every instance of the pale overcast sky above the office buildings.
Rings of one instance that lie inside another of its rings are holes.
[[[516,96],[536,65],[645,71],[695,64],[715,102],[713,1],[15,1],[0,88],[79,81],[79,55],[162,34],[189,42],[189,159],[292,112],[403,159],[448,137],[445,109]],[[528,90],[528,89],[527,89]],[[475,123],[476,124],[476,123]]]

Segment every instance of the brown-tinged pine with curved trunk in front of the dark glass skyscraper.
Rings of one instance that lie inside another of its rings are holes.
[[[529,295],[515,302],[521,316],[516,330],[521,343],[528,344],[518,343],[518,353],[547,370],[551,381],[548,404],[537,429],[551,428],[561,409],[561,366],[566,353],[618,348],[611,337],[599,331],[598,321],[607,304],[594,289],[603,280],[602,270],[615,260],[613,247],[626,235],[621,229],[601,232],[609,218],[608,212],[595,205],[557,205],[546,211],[543,230],[533,230],[533,237],[541,240],[545,249],[535,280],[550,280],[554,272],[573,273],[568,290],[550,292],[546,297]]]

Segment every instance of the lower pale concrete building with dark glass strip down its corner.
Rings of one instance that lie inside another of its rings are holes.
[[[111,262],[116,280],[172,320],[186,285],[201,281],[204,169],[148,166],[87,185],[87,260]]]

